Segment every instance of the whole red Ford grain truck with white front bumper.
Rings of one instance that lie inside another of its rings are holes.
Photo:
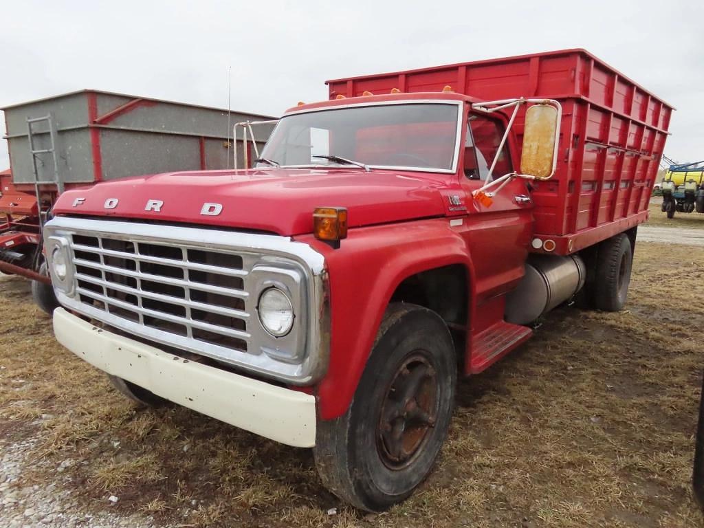
[[[62,194],[54,331],[383,510],[432,469],[458,375],[572,298],[622,308],[672,107],[579,49],[327,84],[254,168]]]

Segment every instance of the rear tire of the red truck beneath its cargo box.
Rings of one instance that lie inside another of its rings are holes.
[[[594,306],[617,312],[624,307],[631,282],[633,248],[625,233],[606,239],[598,247]]]

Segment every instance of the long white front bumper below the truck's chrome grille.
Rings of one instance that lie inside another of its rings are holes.
[[[315,445],[315,397],[240,376],[54,310],[56,339],[82,360],[199,413],[282,444]]]

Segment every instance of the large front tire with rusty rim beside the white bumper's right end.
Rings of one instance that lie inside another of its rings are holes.
[[[391,304],[351,406],[318,423],[313,454],[323,484],[367,511],[408,498],[445,440],[456,377],[453,341],[440,316]]]

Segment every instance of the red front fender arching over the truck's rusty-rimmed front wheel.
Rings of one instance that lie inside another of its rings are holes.
[[[461,264],[472,288],[474,268],[465,241],[451,230],[446,218],[351,230],[339,249],[311,236],[297,239],[320,251],[329,270],[329,367],[315,392],[319,417],[332,420],[345,413],[352,401],[398,284],[418,272]],[[473,292],[467,297],[471,303]]]

